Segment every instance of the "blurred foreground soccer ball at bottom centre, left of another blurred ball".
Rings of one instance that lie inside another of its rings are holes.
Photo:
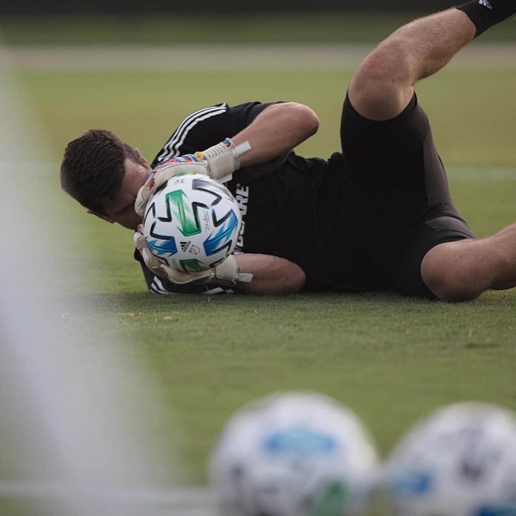
[[[228,422],[209,461],[224,516],[363,514],[377,454],[358,417],[315,393],[278,393]]]

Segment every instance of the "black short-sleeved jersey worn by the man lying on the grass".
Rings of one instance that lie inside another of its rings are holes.
[[[152,167],[175,156],[206,149],[249,125],[270,104],[218,104],[189,115],[174,131]],[[272,162],[240,169],[227,184],[243,219],[235,252],[283,257],[307,275],[304,290],[360,291],[381,287],[369,278],[344,206],[341,154],[329,160],[290,152]],[[141,262],[138,253],[135,254]],[[216,286],[175,285],[156,278],[142,263],[151,292],[228,292]]]

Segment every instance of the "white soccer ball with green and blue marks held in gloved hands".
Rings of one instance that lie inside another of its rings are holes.
[[[196,272],[233,252],[240,224],[238,204],[224,185],[203,174],[184,174],[149,199],[143,236],[164,264]]]

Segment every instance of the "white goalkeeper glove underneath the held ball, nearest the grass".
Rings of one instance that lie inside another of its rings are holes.
[[[237,281],[250,282],[253,279],[252,274],[239,272],[238,264],[235,256],[230,254],[223,262],[215,267],[200,272],[184,272],[175,269],[161,262],[154,254],[152,254],[147,241],[143,236],[141,225],[134,234],[134,245],[140,251],[143,262],[147,267],[160,278],[165,278],[172,283],[183,285],[185,283],[214,283],[223,287],[233,287]]]

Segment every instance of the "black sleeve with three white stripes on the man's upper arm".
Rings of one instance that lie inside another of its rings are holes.
[[[179,124],[156,154],[151,166],[154,168],[167,159],[202,151],[224,138],[231,138],[273,104],[247,102],[231,107],[222,103],[193,112]]]

